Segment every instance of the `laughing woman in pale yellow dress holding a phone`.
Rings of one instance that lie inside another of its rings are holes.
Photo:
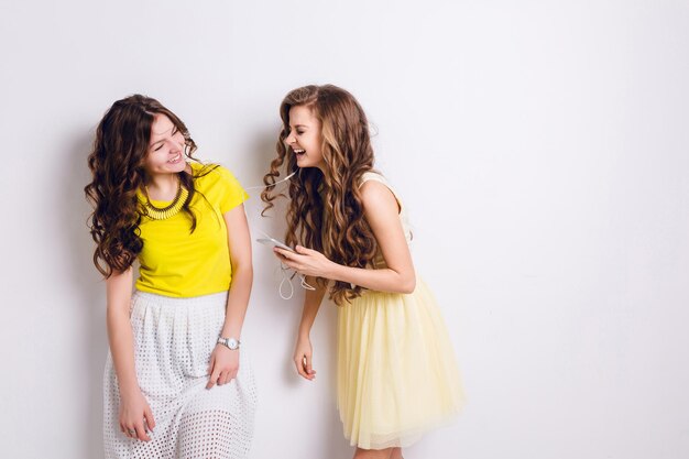
[[[264,177],[266,209],[289,182],[278,259],[306,276],[294,363],[313,380],[309,340],[329,292],[338,307],[337,404],[354,458],[402,458],[402,448],[450,420],[462,394],[436,300],[416,275],[405,208],[373,168],[367,117],[336,86],[306,86],[280,107],[277,157]]]

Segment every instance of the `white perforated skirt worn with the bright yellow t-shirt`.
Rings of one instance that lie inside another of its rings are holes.
[[[225,323],[227,292],[171,298],[135,292],[131,304],[139,385],[155,429],[151,441],[120,431],[120,393],[112,356],[103,380],[106,458],[245,458],[256,403],[253,372],[242,347],[239,372],[207,390],[210,353]]]

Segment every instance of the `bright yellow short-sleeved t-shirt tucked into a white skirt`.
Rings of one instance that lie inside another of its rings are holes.
[[[194,176],[208,168],[189,163]],[[143,250],[139,254],[136,288],[158,295],[190,297],[229,289],[232,266],[228,231],[222,215],[249,198],[237,178],[222,166],[194,178],[196,193],[189,205],[196,229],[183,210],[164,220],[142,217],[139,229]],[[145,197],[140,194],[140,199]],[[169,203],[151,200],[162,208]]]

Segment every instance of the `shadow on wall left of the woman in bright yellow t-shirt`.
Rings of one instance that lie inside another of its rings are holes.
[[[92,263],[95,244],[88,232],[87,219],[91,212],[90,206],[84,197],[84,186],[90,182],[91,176],[87,166],[87,156],[90,152],[94,129],[83,127],[83,133],[74,139],[73,146],[67,152],[68,161],[59,171],[64,194],[58,199],[62,209],[56,215],[64,219],[59,221],[63,228],[69,228],[66,232],[67,240],[63,241],[69,248],[72,256],[65,260],[65,269],[70,271],[68,278],[75,284],[75,292],[80,292],[78,297],[79,310],[83,312],[84,330],[81,334],[83,349],[81,361],[88,378],[87,392],[70,394],[72,400],[87,400],[81,418],[85,420],[83,428],[83,457],[102,457],[102,372],[108,351],[106,331],[105,288],[101,276]],[[75,384],[75,387],[77,384]],[[57,426],[56,426],[57,427]]]

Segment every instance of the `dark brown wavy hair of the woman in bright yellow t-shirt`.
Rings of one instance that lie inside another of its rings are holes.
[[[84,188],[94,207],[90,233],[96,241],[94,264],[106,278],[114,272],[128,270],[141,253],[143,241],[139,223],[146,215],[139,204],[136,190],[144,190],[146,172],[144,160],[151,141],[151,125],[155,114],[165,114],[185,139],[185,156],[193,157],[196,143],[182,120],[161,102],[150,97],[134,95],[116,101],[96,129],[94,147],[88,156],[92,181]],[[205,175],[207,172],[200,175]],[[196,217],[189,208],[195,194],[192,175],[178,173],[182,186],[189,195],[183,211],[196,229]]]

